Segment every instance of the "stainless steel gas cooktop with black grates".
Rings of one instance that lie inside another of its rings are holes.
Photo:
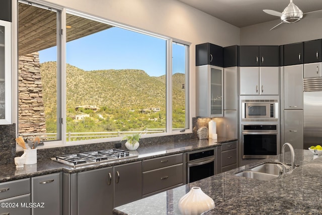
[[[119,149],[108,149],[94,152],[76,153],[51,158],[53,161],[63,163],[67,166],[77,168],[95,164],[120,161],[129,158],[136,158],[138,155]]]

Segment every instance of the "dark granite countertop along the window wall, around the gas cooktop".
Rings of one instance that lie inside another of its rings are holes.
[[[126,164],[135,161],[142,161],[151,158],[174,155],[199,149],[206,149],[220,146],[224,142],[235,141],[234,138],[218,138],[218,139],[189,139],[181,141],[172,141],[165,144],[153,144],[140,146],[136,151],[132,151],[138,155],[137,158],[125,159],[123,161],[109,162],[105,164],[92,165],[79,168],[71,168],[56,161],[48,159],[38,159],[37,164],[25,165],[24,168],[16,169],[15,164],[0,165],[0,182],[12,181],[17,179],[29,178],[39,175],[46,175],[57,172],[76,173],[92,169]],[[57,155],[59,156],[59,155]]]

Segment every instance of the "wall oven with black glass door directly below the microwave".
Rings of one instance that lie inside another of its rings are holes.
[[[241,157],[242,159],[265,159],[279,152],[278,125],[251,124],[242,125]]]

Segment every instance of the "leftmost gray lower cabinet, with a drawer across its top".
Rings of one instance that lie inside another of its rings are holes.
[[[31,214],[30,192],[30,178],[0,183],[0,214]]]

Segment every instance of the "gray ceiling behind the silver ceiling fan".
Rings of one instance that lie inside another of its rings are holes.
[[[236,27],[246,27],[277,20],[263,9],[283,12],[289,0],[178,0]],[[322,10],[321,0],[293,0],[303,13]],[[322,15],[321,15],[322,17]],[[305,18],[305,17],[304,17]]]

